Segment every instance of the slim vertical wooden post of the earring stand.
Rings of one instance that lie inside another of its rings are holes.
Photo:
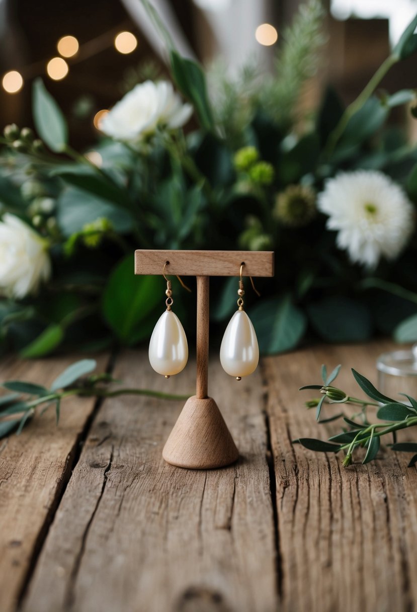
[[[208,318],[209,307],[208,276],[197,276],[197,389],[196,397],[208,397]]]

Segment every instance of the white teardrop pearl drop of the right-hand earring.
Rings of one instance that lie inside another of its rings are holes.
[[[229,321],[220,346],[220,363],[231,376],[248,376],[256,370],[259,346],[251,319],[237,310]]]

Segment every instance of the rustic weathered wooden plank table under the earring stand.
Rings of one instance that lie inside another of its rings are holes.
[[[268,357],[241,383],[213,360],[209,391],[242,455],[229,468],[164,463],[182,403],[144,397],[71,398],[58,430],[51,411],[0,442],[1,612],[415,610],[408,455],[343,469],[338,456],[291,444],[336,427],[316,424],[298,386],[317,383],[322,362],[341,362],[339,384],[353,390],[350,366],[375,380],[386,348]],[[4,360],[0,378],[48,383],[72,360]],[[130,352],[113,372],[131,386],[193,393],[191,364],[165,384]]]

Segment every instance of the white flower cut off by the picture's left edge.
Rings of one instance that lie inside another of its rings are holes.
[[[0,222],[0,292],[21,299],[51,275],[48,243],[26,223],[6,213]]]

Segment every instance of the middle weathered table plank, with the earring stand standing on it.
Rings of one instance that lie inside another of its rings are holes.
[[[193,393],[194,368],[164,381],[127,353],[127,384]],[[105,401],[51,525],[26,612],[273,612],[275,534],[260,375],[217,363],[209,391],[242,453],[229,468],[174,468],[161,450],[182,403]]]

